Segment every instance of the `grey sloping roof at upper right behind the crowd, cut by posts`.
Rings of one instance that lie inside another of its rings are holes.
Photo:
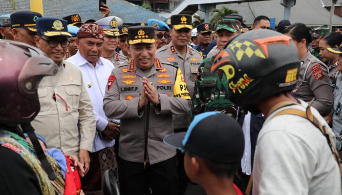
[[[252,25],[255,17],[260,15],[275,18],[276,24],[284,19],[284,7],[279,0],[216,5],[217,8],[221,6],[237,10],[248,25]],[[297,0],[296,5],[291,8],[290,22],[301,22],[308,26],[321,26],[329,24],[329,16],[330,12],[322,7],[321,0]],[[342,26],[342,18],[334,15],[333,25]]]

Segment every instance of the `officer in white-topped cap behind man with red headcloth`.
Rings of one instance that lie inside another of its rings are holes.
[[[117,17],[109,16],[104,19],[98,20],[95,23],[99,24],[105,32],[105,42],[103,45],[102,56],[111,61],[114,66],[120,66],[127,61],[125,56],[120,55],[115,49],[119,43],[119,28]],[[121,20],[121,19],[120,19]]]

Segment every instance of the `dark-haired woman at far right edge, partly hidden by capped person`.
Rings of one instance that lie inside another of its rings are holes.
[[[339,46],[342,44],[342,35],[337,32],[332,32],[327,34],[325,37],[323,37],[320,40],[320,56],[321,60],[327,64],[328,70],[329,70],[329,79],[331,86],[334,88],[336,79],[335,76],[337,76],[337,58],[339,55],[330,53],[328,51],[328,48],[339,48]]]

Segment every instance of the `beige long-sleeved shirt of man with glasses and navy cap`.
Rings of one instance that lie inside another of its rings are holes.
[[[80,149],[92,151],[96,123],[81,71],[69,62],[62,64],[55,76],[41,80],[41,110],[31,124],[45,137],[48,148],[78,156]]]

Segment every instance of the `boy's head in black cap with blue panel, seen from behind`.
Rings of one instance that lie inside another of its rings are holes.
[[[244,138],[234,118],[220,112],[197,115],[187,132],[165,137],[164,142],[185,152],[187,175],[207,195],[242,195],[233,183],[244,151]]]

